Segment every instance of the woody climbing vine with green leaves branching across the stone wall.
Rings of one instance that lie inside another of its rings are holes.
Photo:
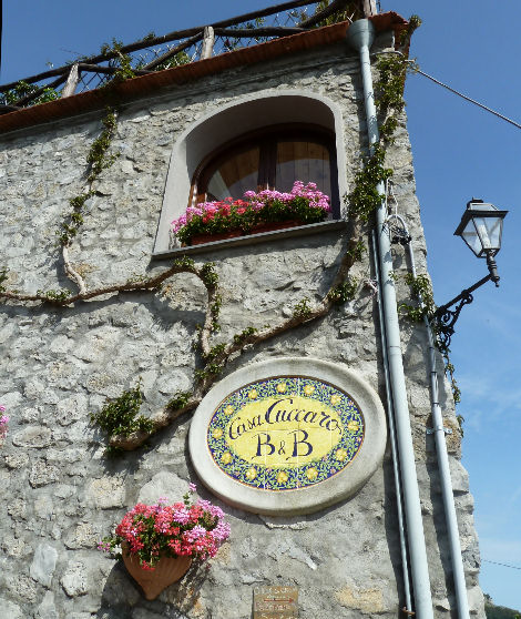
[[[134,72],[130,67],[130,59],[121,52],[121,43],[113,41],[112,48],[106,47],[103,53],[110,51],[116,52],[120,69],[114,75],[114,81],[133,77]],[[405,62],[403,59],[401,60]],[[110,294],[161,293],[167,285],[167,280],[181,273],[195,275],[205,287],[205,319],[198,328],[197,337],[202,365],[195,371],[193,388],[186,392],[177,392],[162,410],[154,413],[151,417],[139,414],[143,400],[141,383],[126,389],[114,400],[106,403],[102,410],[93,414],[91,418],[108,434],[110,453],[135,449],[145,443],[151,435],[172,424],[178,416],[193,410],[219,374],[224,372],[232,356],[241,355],[246,347],[257,346],[298,326],[325,317],[336,305],[355,298],[359,285],[357,280],[349,275],[349,272],[355,263],[362,260],[366,251],[361,240],[362,232],[372,217],[372,213],[380,206],[385,197],[379,193],[378,185],[392,174],[392,170],[385,166],[385,158],[386,146],[392,139],[397,122],[394,124],[388,119],[389,111],[399,112],[402,103],[400,108],[396,98],[397,82],[391,73],[392,69],[380,68],[380,80],[377,82],[377,87],[379,104],[387,114],[385,121],[387,122],[387,129],[382,132],[380,143],[374,145],[370,155],[361,158],[360,170],[356,173],[353,190],[346,197],[349,212],[348,237],[345,252],[328,291],[317,302],[311,302],[308,297],[302,298],[295,304],[292,315],[282,319],[278,324],[265,325],[262,328],[248,326],[239,333],[232,334],[227,342],[216,345],[212,345],[212,337],[221,329],[218,317],[222,310],[222,295],[218,273],[213,263],[196,265],[193,260],[184,256],[174,260],[170,267],[157,275],[150,277],[134,275],[124,282],[93,290],[88,288],[83,277],[71,266],[69,248],[83,223],[85,204],[90,197],[95,195],[94,183],[100,174],[114,163],[118,156],[116,153],[110,153],[111,143],[116,132],[116,110],[114,108],[106,109],[102,119],[102,132],[93,141],[86,156],[85,187],[69,201],[72,211],[67,215],[58,234],[65,274],[76,285],[78,291],[50,290],[38,291],[35,294],[24,294],[8,290],[4,285],[8,273],[2,270],[0,271],[0,298],[11,303],[37,303],[64,307]],[[402,91],[402,80],[400,83]]]

